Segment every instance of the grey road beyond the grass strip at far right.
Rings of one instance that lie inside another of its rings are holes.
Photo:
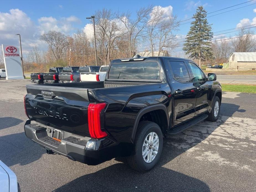
[[[231,84],[256,84],[256,75],[217,75],[217,81]]]

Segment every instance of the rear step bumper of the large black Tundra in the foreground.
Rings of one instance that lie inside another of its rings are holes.
[[[49,133],[46,132],[46,126],[41,126],[37,123],[31,124],[30,120],[26,121],[24,129],[26,136],[32,141],[74,161],[87,165],[98,165],[114,157],[111,149],[113,142],[107,138],[91,139],[83,137],[81,139],[72,135],[59,142],[48,136]]]

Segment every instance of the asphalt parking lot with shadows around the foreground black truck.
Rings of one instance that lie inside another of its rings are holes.
[[[256,94],[223,93],[221,116],[164,139],[159,164],[138,173],[120,160],[74,162],[24,134],[25,80],[0,80],[0,159],[21,191],[256,191]],[[1,191],[1,190],[0,190]]]

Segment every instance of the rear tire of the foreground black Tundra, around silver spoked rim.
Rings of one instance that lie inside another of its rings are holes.
[[[146,137],[147,141],[148,139],[150,140],[152,134],[153,139],[157,139],[156,135],[158,136],[159,142],[156,140],[156,144],[152,147],[152,145],[144,145],[144,142],[146,144]],[[158,143],[158,151],[156,153],[156,148],[157,148],[157,143]],[[145,147],[148,148],[145,148]],[[146,155],[146,159],[143,159],[143,149],[148,155]],[[147,150],[148,149],[148,150]],[[133,144],[133,155],[127,157],[127,162],[136,171],[139,172],[147,172],[151,170],[159,161],[161,153],[163,149],[163,136],[162,136],[162,131],[160,127],[151,121],[141,121],[138,125],[136,137],[135,137],[135,142]],[[148,151],[148,152],[147,152]],[[152,161],[150,159],[152,157]],[[148,162],[146,162],[146,160]]]

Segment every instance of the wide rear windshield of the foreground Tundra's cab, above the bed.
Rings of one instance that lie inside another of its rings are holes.
[[[110,66],[108,79],[160,81],[161,73],[158,62],[124,62]]]

